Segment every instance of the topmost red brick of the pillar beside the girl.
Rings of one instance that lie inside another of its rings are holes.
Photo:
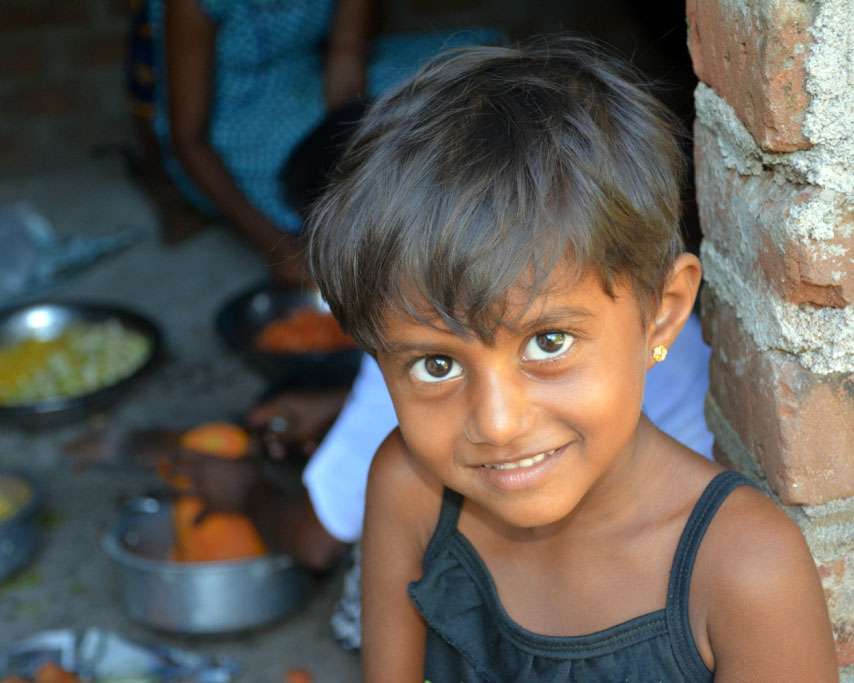
[[[811,3],[687,0],[688,47],[697,77],[729,102],[768,151],[811,146],[806,58]]]

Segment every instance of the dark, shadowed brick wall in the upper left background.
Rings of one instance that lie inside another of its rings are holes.
[[[129,137],[128,0],[0,2],[0,173]]]

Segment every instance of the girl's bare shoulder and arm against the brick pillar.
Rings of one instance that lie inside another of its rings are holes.
[[[707,626],[715,681],[838,681],[821,582],[800,530],[755,491],[732,499],[698,558],[714,567]]]

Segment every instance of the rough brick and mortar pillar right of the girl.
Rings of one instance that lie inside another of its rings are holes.
[[[798,521],[854,681],[854,0],[687,0],[716,457]]]

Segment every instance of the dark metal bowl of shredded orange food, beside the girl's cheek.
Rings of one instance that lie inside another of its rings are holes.
[[[265,325],[304,306],[329,310],[317,292],[283,289],[265,282],[228,301],[216,314],[214,328],[249,368],[277,387],[320,389],[350,385],[359,370],[362,352],[358,349],[270,353],[255,347]]]

